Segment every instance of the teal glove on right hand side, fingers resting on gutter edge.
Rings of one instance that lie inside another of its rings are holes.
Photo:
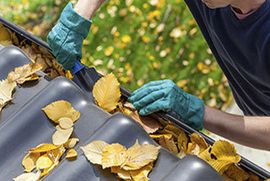
[[[145,84],[131,95],[129,101],[142,116],[156,111],[173,112],[194,129],[203,128],[203,101],[185,93],[171,80]]]

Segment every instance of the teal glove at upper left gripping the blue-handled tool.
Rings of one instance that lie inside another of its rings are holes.
[[[82,44],[90,26],[91,21],[75,12],[72,3],[69,3],[49,32],[48,44],[64,69],[71,70],[75,62],[82,58]]]

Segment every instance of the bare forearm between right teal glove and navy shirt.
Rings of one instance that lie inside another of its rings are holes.
[[[205,107],[204,127],[240,144],[270,150],[270,117],[244,117]]]

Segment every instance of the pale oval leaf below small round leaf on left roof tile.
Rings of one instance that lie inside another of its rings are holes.
[[[55,145],[62,145],[68,141],[73,132],[73,127],[69,129],[58,129],[52,136],[52,142]]]

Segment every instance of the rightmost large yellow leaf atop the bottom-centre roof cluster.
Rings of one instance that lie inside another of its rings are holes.
[[[150,144],[140,145],[137,142],[127,150],[124,170],[138,170],[157,159],[159,147]]]

